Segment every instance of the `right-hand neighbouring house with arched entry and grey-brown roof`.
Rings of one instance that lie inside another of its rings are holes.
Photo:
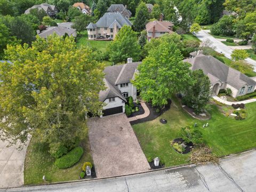
[[[256,82],[236,69],[228,67],[211,55],[199,53],[193,58],[185,59],[192,66],[191,70],[202,69],[210,79],[212,93],[218,95],[221,89],[231,89],[232,97],[236,98],[255,90]]]

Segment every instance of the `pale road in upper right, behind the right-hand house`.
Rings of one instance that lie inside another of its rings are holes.
[[[234,51],[233,49],[231,49],[230,47],[228,47],[227,45],[219,42],[217,39],[215,39],[213,36],[211,36],[210,34],[208,34],[206,32],[206,30],[201,30],[199,31],[197,34],[195,34],[197,36],[197,38],[199,38],[201,41],[204,41],[204,39],[210,39],[210,41],[212,42],[211,47],[219,52],[219,53],[223,53],[225,54],[225,57],[231,59],[231,53],[232,51]],[[246,59],[247,62],[251,63],[254,66],[254,71],[256,71],[256,61],[253,59]]]

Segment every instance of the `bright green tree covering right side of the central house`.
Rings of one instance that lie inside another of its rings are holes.
[[[173,42],[161,42],[149,51],[139,65],[133,84],[140,90],[143,100],[153,106],[164,106],[174,93],[182,91],[189,81],[189,63]]]

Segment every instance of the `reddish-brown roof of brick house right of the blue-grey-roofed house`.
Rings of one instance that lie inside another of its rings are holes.
[[[147,32],[153,32],[155,26],[155,32],[168,32],[172,33],[173,31],[170,29],[173,26],[173,23],[170,21],[151,21],[146,25]]]

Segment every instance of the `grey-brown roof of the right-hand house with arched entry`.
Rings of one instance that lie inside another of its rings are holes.
[[[211,55],[198,54],[196,57],[191,59],[185,59],[184,61],[189,62],[192,66],[191,70],[202,69],[204,74],[207,75],[214,85],[215,82],[221,81],[226,82],[237,89],[241,89],[244,85],[256,85],[256,82],[252,78],[247,77],[236,69],[228,67],[218,59]]]

